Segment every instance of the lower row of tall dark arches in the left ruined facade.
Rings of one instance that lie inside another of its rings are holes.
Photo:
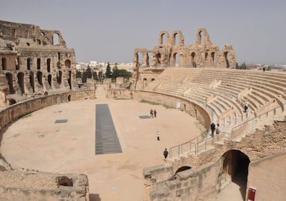
[[[22,72],[19,72],[17,73],[17,79],[13,77],[12,73],[6,73],[5,75],[8,82],[10,94],[17,93],[22,95],[23,93],[37,93],[38,87],[45,90],[50,90],[54,88],[52,75],[49,74],[45,77],[43,76],[43,73],[41,71],[37,71],[37,73],[30,71],[26,75]],[[70,89],[72,88],[71,77],[72,77],[72,72],[71,70],[69,70],[67,81]],[[62,79],[63,79],[63,73],[61,72],[61,70],[59,70],[55,77],[55,82],[57,86],[61,86]],[[39,84],[39,86],[36,86],[36,83]],[[16,85],[19,86],[19,89],[21,91],[16,91],[17,89],[15,88]],[[27,90],[27,88],[30,88],[30,90]]]

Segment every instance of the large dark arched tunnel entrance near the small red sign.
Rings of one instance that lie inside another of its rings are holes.
[[[229,150],[222,156],[225,158],[222,173],[225,175],[226,180],[231,179],[231,182],[240,186],[241,196],[245,199],[249,157],[238,150]]]

